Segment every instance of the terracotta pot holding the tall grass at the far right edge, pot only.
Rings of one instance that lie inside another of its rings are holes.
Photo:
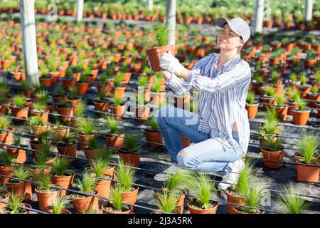
[[[302,182],[319,182],[319,162],[317,165],[309,166],[302,163],[301,160],[296,157],[296,170],[297,170],[297,180]]]

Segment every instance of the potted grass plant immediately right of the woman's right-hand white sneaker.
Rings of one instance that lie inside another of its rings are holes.
[[[245,167],[240,171],[237,185],[231,185],[225,190],[227,200],[233,204],[244,204],[245,192],[252,181],[255,170],[253,168],[252,160],[245,160]],[[233,207],[235,205],[228,204],[228,214],[233,214]]]

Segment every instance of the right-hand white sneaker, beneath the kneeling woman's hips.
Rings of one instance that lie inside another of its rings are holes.
[[[245,167],[245,162],[242,162],[242,160],[239,159],[239,160],[236,160],[235,162],[232,162],[232,164],[229,166],[231,166],[231,172],[227,172],[227,174],[223,176],[223,180],[218,185],[219,190],[224,191],[231,185],[237,184],[239,173]]]

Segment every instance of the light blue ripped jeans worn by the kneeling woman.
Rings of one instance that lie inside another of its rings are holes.
[[[165,105],[156,113],[156,121],[164,137],[171,162],[178,162],[181,167],[207,172],[231,171],[228,164],[239,160],[244,154],[238,142],[238,133],[233,133],[237,143],[233,147],[227,147],[215,138],[211,138],[210,133],[198,130],[199,117],[196,113]],[[178,153],[182,150],[181,134],[195,142],[183,149],[187,155]]]

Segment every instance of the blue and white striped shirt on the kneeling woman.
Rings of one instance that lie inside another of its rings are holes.
[[[250,66],[238,54],[216,72],[219,55],[211,53],[201,58],[186,81],[172,74],[166,84],[178,94],[192,88],[200,90],[198,130],[232,147],[236,143],[232,136],[233,123],[236,123],[240,146],[247,152],[250,125],[245,102],[251,81]]]

